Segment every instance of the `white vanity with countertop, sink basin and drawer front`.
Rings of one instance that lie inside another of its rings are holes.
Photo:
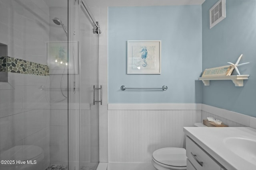
[[[256,170],[256,129],[183,127],[187,170]]]

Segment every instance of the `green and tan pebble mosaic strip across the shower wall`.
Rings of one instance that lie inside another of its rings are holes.
[[[0,57],[0,72],[49,76],[49,66],[14,57]]]

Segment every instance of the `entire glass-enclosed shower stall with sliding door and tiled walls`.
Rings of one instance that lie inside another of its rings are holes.
[[[0,0],[0,170],[96,170],[100,33],[84,0]]]

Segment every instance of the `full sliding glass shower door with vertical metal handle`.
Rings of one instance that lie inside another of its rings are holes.
[[[99,162],[98,106],[94,104],[98,85],[98,34],[80,0],[69,0],[69,60],[77,65],[69,70],[69,169],[96,170]],[[75,57],[74,57],[75,56]],[[78,57],[76,57],[78,56]]]

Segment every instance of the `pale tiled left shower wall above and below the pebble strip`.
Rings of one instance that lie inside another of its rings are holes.
[[[49,7],[43,0],[0,1],[0,43],[8,56],[47,64]],[[44,150],[44,167],[50,162],[49,76],[9,72],[14,89],[0,90],[0,151],[16,145],[36,145]]]

